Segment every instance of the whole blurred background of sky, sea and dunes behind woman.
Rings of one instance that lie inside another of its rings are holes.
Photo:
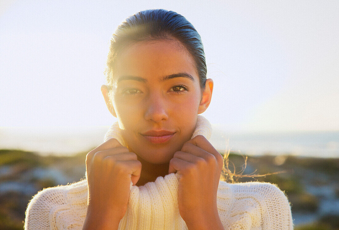
[[[251,180],[285,191],[295,229],[339,229],[339,2],[268,0],[0,1],[1,229],[22,229],[39,190],[83,178],[116,121],[100,92],[109,40],[150,8],[202,37],[214,146],[236,171],[243,156],[244,173],[284,171]]]

